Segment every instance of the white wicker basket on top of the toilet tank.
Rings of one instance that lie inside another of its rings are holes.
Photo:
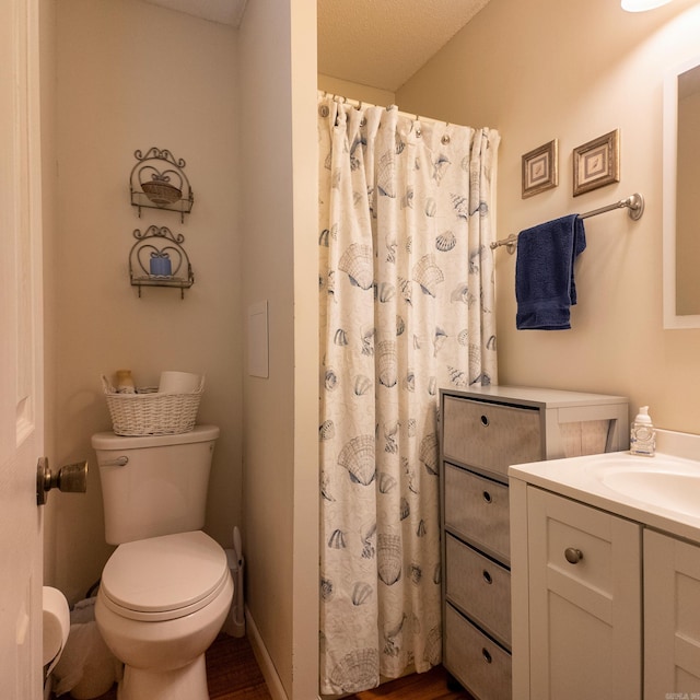
[[[117,394],[107,377],[102,377],[117,435],[174,435],[195,428],[205,377],[191,394],[159,394],[139,389],[138,394]]]

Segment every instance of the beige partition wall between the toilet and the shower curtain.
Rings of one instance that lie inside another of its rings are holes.
[[[283,4],[248,3],[241,26],[244,317],[269,307],[269,377],[243,365],[244,511],[250,614],[283,692],[306,700],[318,686],[316,18]]]

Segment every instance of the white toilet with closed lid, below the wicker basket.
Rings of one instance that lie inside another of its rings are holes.
[[[97,433],[105,539],[95,620],[125,664],[119,700],[209,700],[205,651],[221,630],[233,580],[201,532],[215,425],[124,438]]]

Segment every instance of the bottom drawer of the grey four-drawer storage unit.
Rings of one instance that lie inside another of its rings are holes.
[[[511,655],[445,606],[445,668],[479,700],[511,700]]]

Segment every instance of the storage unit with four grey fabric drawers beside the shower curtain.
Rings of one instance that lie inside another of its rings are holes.
[[[491,386],[442,389],[440,407],[443,664],[479,700],[520,700],[511,682],[508,468],[629,446],[628,401]]]

